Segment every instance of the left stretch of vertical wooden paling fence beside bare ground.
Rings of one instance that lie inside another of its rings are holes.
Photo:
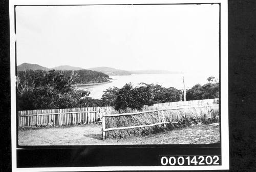
[[[115,107],[80,107],[73,109],[18,111],[18,127],[61,126],[94,123]]]

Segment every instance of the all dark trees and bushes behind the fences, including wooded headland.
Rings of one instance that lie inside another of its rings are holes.
[[[99,72],[100,73],[100,72]],[[108,76],[108,75],[106,75]],[[20,71],[17,73],[17,109],[65,109],[86,106],[115,106],[117,110],[141,110],[143,105],[182,100],[182,90],[158,84],[140,83],[133,87],[109,88],[101,99],[90,98],[90,92],[76,90],[74,83],[103,82],[105,74],[80,71]],[[84,78],[84,80],[82,80]],[[219,83],[214,77],[208,83],[196,84],[186,91],[186,100],[219,98]]]

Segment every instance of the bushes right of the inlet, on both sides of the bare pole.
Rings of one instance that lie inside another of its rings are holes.
[[[186,100],[219,98],[219,83],[215,77],[209,77],[207,80],[208,83],[196,84],[187,90]],[[104,91],[101,100],[102,105],[115,106],[116,110],[141,110],[143,105],[181,101],[183,100],[183,90],[146,83],[133,87],[131,83],[126,83],[121,89],[115,87]]]

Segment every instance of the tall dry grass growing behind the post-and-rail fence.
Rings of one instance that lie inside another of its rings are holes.
[[[156,110],[156,107],[152,109],[151,107],[145,107],[142,111]],[[131,111],[136,112],[136,111]],[[117,112],[115,112],[117,113]],[[152,127],[141,127],[141,128],[131,128],[128,130],[114,130],[106,132],[106,138],[111,139],[121,139],[128,138],[131,136],[139,135],[150,135],[156,134],[163,131],[172,131],[177,128],[182,128],[189,126],[191,124],[197,123],[213,123],[218,122],[219,119],[219,107],[209,106],[209,107],[195,107],[189,109],[180,110],[168,110],[168,111],[158,111],[150,112],[138,115],[125,115],[117,117],[106,117],[105,118],[105,128],[112,127],[125,127],[125,126],[136,126],[136,125],[148,125],[158,122],[170,122],[166,124],[166,128],[163,124],[155,125]]]

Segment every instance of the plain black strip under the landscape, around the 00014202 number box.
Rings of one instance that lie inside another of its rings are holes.
[[[144,145],[143,145],[144,146]],[[18,167],[158,166],[159,155],[221,155],[220,147],[99,146],[17,150]]]

